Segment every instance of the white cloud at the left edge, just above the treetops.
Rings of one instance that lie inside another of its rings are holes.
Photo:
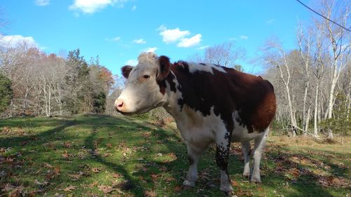
[[[34,41],[32,36],[12,35],[0,37],[0,46],[16,47],[19,44],[26,43],[27,46],[39,48],[39,44]]]

